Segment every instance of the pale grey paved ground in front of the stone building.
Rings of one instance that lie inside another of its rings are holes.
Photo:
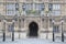
[[[0,38],[0,44],[66,44],[66,42],[62,42],[61,40],[53,42],[52,40],[43,38],[21,38],[14,42],[11,38],[7,38],[6,42],[2,42],[2,38]]]

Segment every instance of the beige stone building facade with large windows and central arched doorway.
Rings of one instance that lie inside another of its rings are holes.
[[[12,31],[15,38],[66,36],[66,0],[0,0],[0,36]]]

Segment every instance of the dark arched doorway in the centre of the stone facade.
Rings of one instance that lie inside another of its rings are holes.
[[[29,36],[36,36],[37,37],[37,32],[38,32],[38,25],[35,22],[31,22],[29,25]]]

